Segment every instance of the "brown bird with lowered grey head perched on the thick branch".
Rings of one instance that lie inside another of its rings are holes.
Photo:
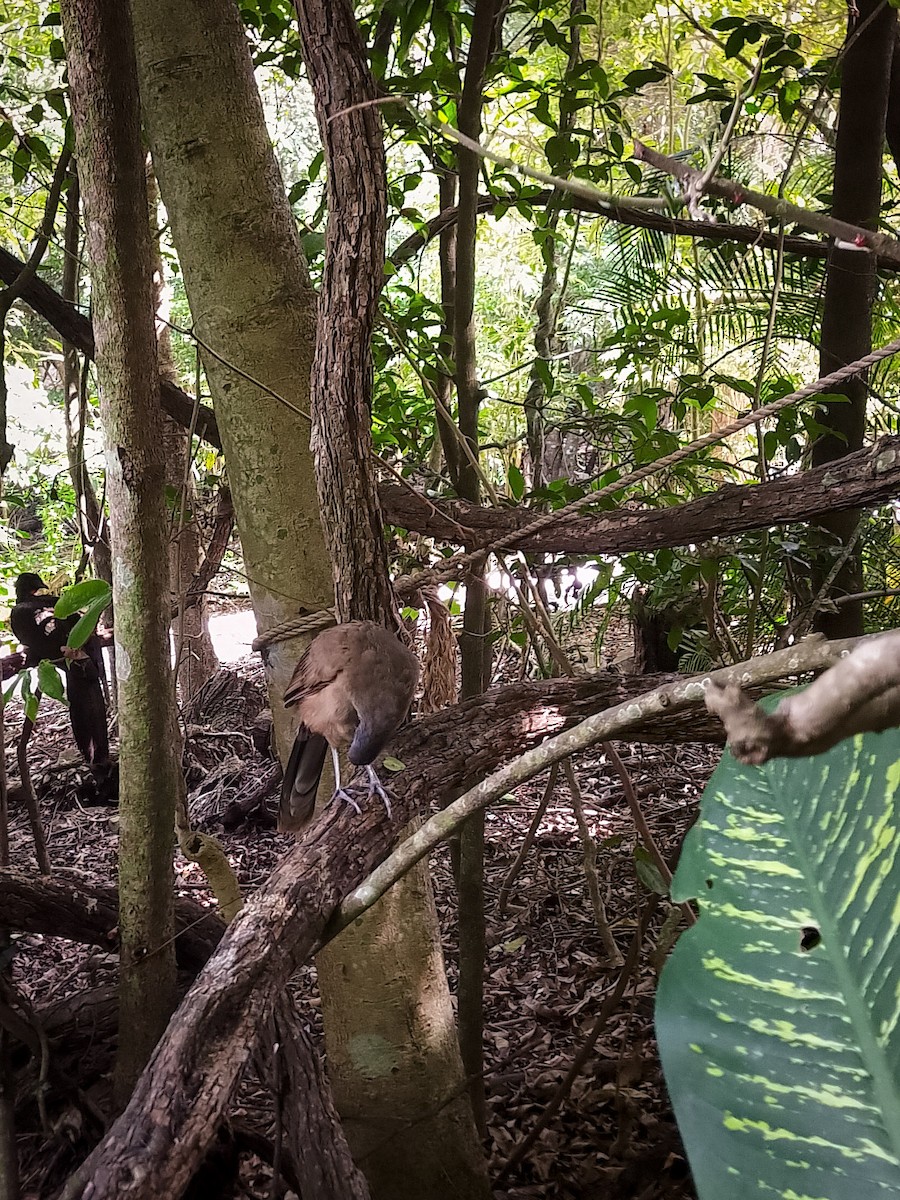
[[[296,704],[300,725],[284,769],[278,828],[300,829],[312,816],[316,792],[331,748],[335,792],[358,812],[341,785],[338,751],[368,775],[367,796],[378,794],[390,816],[390,799],[372,762],[409,715],[419,660],[392,634],[372,620],[326,629],[310,643],[284,692]]]

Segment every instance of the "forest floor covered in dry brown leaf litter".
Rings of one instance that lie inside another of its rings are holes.
[[[212,690],[205,707],[188,714],[186,763],[192,816],[198,827],[221,839],[247,894],[264,884],[288,839],[274,832],[264,810],[232,832],[223,829],[222,815],[229,804],[246,796],[266,773],[272,774],[272,763],[250,749],[245,732],[238,732],[247,730],[254,710],[264,702],[258,661],[233,664],[216,678],[223,685]],[[14,776],[12,739],[18,736],[20,721],[14,704],[7,720],[7,770]],[[672,860],[719,751],[620,744],[619,752],[654,836]],[[44,701],[30,761],[54,871],[92,883],[114,883],[118,814],[115,808],[77,798],[80,768],[67,715],[60,706]],[[582,756],[576,770],[596,848],[601,895],[624,955],[649,899],[636,877],[634,826],[618,779],[601,752]],[[270,808],[276,786],[277,780],[270,788]],[[690,1175],[653,1034],[659,966],[653,952],[665,902],[650,924],[638,971],[623,1002],[599,1033],[593,1031],[596,1040],[583,1068],[566,1082],[572,1061],[592,1034],[601,1003],[618,979],[618,968],[608,964],[598,934],[582,841],[562,779],[502,907],[504,882],[545,787],[546,779],[521,787],[511,800],[492,809],[486,822],[485,1085],[494,1195],[498,1200],[690,1200]],[[20,806],[11,814],[11,853],[14,869],[35,871]],[[433,857],[432,869],[454,988],[456,908],[445,851]],[[179,859],[176,881],[180,895],[211,905],[197,866]],[[115,964],[114,953],[96,947],[19,935],[14,938],[12,978],[40,1014],[68,1003],[79,991],[112,986]],[[314,966],[298,972],[295,985],[300,1010],[311,1028],[318,1031]],[[85,1084],[86,1094],[100,1109],[107,1090],[106,1073]],[[266,1088],[247,1078],[236,1098],[234,1120],[270,1133],[270,1099]],[[534,1145],[504,1174],[510,1156],[516,1154],[538,1120],[557,1106]],[[24,1200],[49,1200],[89,1148],[83,1126],[71,1111],[67,1114],[65,1118],[56,1116],[54,1135],[48,1139],[41,1134],[34,1111],[25,1106],[22,1112]],[[222,1200],[230,1195],[268,1196],[270,1177],[266,1165],[250,1156],[242,1160],[240,1189],[223,1190]],[[205,1200],[220,1198],[209,1194]]]

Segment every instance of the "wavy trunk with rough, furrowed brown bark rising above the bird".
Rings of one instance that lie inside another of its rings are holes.
[[[372,460],[372,326],[384,281],[385,176],[374,80],[346,2],[296,5],[328,161],[312,446],[341,620],[391,623]],[[356,107],[347,112],[352,106]]]

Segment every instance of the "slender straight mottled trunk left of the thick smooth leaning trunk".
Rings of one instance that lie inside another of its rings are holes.
[[[169,664],[163,443],[128,8],[65,0],[112,514],[119,684],[119,1102],[175,1001],[173,824],[184,796]]]

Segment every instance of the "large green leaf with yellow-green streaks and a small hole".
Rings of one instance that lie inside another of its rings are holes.
[[[899,785],[896,730],[709,781],[656,1002],[702,1200],[900,1198]]]

